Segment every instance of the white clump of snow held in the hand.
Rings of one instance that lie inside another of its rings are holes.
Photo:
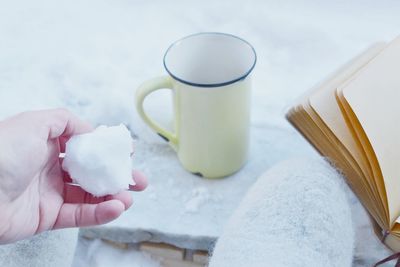
[[[134,184],[132,152],[132,138],[124,125],[99,126],[68,140],[62,168],[94,196],[116,194]]]

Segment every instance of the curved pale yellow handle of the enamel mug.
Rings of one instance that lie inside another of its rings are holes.
[[[139,86],[136,90],[136,110],[143,121],[176,150],[178,145],[178,138],[176,135],[159,126],[149,116],[147,116],[144,111],[143,102],[146,96],[159,89],[174,90],[172,80],[169,76],[156,77]]]

